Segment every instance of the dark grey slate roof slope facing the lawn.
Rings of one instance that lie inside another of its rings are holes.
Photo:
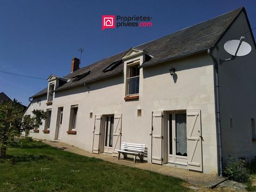
[[[214,47],[228,27],[233,23],[238,14],[244,10],[243,7],[234,11],[222,14],[219,17],[198,23],[197,25],[179,30],[170,35],[158,38],[154,41],[135,46],[137,49],[145,50],[154,58],[144,62],[140,67],[156,65],[167,60],[185,57],[186,55],[198,53]],[[107,78],[115,75],[123,74],[123,63],[111,71],[103,73],[103,69],[111,65],[111,63],[121,60],[128,50],[113,55],[109,58],[102,59],[92,65],[83,67],[68,74],[65,78],[72,78],[82,75],[90,70],[90,74],[86,75],[79,81],[69,81],[58,87],[55,91],[65,90],[70,87],[83,85]],[[31,98],[38,97],[47,93],[47,87],[33,95]]]

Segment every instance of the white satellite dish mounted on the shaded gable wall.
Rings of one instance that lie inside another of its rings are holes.
[[[252,51],[252,47],[249,43],[244,42],[244,36],[241,36],[240,40],[233,39],[227,41],[224,44],[224,49],[232,55],[231,58],[220,60],[221,63],[235,59],[236,57],[242,57],[249,54]]]

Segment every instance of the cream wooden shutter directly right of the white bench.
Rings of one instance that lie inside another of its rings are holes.
[[[163,115],[162,111],[154,111],[152,113],[152,151],[151,162],[162,165],[163,152],[162,152],[162,136],[163,136]]]

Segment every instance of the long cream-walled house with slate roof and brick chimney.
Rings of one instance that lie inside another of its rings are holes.
[[[241,36],[250,54],[222,62]],[[242,7],[83,68],[74,58],[31,96],[26,114],[47,119],[30,136],[113,156],[145,144],[148,163],[221,175],[229,155],[256,156],[255,53]]]

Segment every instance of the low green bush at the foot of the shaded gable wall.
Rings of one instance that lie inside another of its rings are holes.
[[[234,157],[230,157],[227,161],[224,173],[225,175],[237,182],[246,182],[250,178],[250,170],[247,169],[247,164],[244,158],[235,161]]]

